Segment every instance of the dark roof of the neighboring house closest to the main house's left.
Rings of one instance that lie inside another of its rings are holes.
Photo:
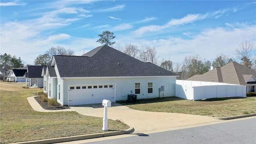
[[[28,76],[26,78],[43,78],[41,76],[43,68],[46,66],[28,66]]]

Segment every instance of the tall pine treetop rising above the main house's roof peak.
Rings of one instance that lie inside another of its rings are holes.
[[[114,36],[113,32],[110,32],[108,30],[103,31],[102,34],[99,34],[98,36],[100,36],[100,39],[98,39],[96,42],[100,42],[100,44],[111,46],[112,44],[116,43],[110,42],[110,40],[116,38],[116,36]]]

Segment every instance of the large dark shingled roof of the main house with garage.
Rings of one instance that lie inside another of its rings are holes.
[[[106,45],[82,56],[54,56],[54,60],[60,77],[178,76]]]

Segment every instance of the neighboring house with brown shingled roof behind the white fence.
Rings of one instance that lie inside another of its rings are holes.
[[[256,71],[237,62],[230,62],[221,68],[214,68],[209,72],[192,76],[187,80],[238,84],[246,86],[247,92],[255,92]]]

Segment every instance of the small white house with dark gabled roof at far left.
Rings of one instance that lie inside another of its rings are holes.
[[[27,72],[27,67],[23,68],[13,68],[8,75],[7,79],[12,82],[26,82],[25,73]]]

